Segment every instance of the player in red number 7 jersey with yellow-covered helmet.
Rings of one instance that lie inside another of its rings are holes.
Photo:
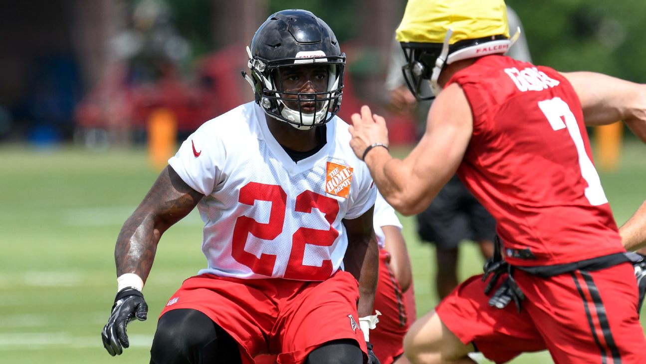
[[[457,171],[499,237],[485,275],[413,323],[408,359],[473,363],[468,353],[479,350],[504,363],[547,349],[556,363],[646,363],[640,257],[621,244],[585,129],[625,120],[646,139],[646,86],[503,56],[502,0],[411,0],[397,39],[412,91],[435,97],[426,133],[404,160],[392,158],[385,120],[364,106],[352,116],[355,154],[406,215]]]

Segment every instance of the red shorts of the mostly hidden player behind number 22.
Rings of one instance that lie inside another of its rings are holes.
[[[410,295],[413,294],[413,285],[411,284],[406,293],[402,292],[390,270],[389,261],[390,254],[380,249],[375,310],[381,312],[381,316],[377,328],[370,330],[370,343],[381,364],[391,364],[404,352],[404,335],[415,320],[414,301],[409,301]]]

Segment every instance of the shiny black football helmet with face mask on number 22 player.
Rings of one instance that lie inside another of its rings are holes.
[[[282,10],[267,18],[247,47],[251,77],[242,71],[266,114],[298,129],[329,122],[341,105],[346,55],[331,28],[307,10]],[[295,65],[324,65],[328,89],[322,92],[286,92],[280,72]],[[287,96],[291,96],[288,98]],[[300,102],[315,102],[315,111],[303,112]],[[297,105],[298,109],[287,107]]]

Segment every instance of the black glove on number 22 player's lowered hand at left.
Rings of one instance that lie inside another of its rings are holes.
[[[123,348],[130,346],[125,331],[126,325],[135,318],[145,321],[147,316],[148,305],[141,292],[131,287],[120,290],[114,297],[110,319],[101,332],[105,350],[108,350],[111,356],[121,355]]]

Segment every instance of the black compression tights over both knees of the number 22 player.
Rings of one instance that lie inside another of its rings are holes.
[[[305,364],[360,364],[357,341],[329,341],[316,348]],[[177,309],[161,316],[152,340],[151,364],[238,364],[238,343],[198,310]]]

